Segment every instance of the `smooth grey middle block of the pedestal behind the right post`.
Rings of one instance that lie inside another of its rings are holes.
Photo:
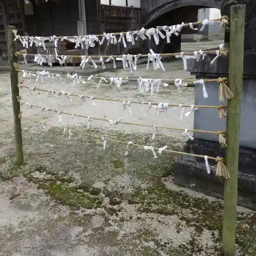
[[[196,105],[221,105],[219,102],[218,84],[206,82],[208,98],[203,97],[202,85],[195,88]],[[194,115],[194,129],[205,131],[226,130],[226,118],[218,118],[215,109],[199,109]],[[218,141],[218,136],[212,134],[195,133],[195,139]],[[244,80],[241,104],[240,146],[256,148],[256,80]]]

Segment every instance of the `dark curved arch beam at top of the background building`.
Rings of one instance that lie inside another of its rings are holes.
[[[141,0],[145,13],[144,26],[153,22],[166,12],[187,6],[202,6],[220,9],[221,0]],[[182,15],[182,13],[181,13]]]

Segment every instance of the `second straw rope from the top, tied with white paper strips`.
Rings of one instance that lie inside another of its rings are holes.
[[[216,53],[214,50],[209,50],[209,51],[203,51],[204,54],[209,54],[209,53]],[[226,57],[228,53],[228,50],[225,48],[220,49],[220,56]],[[32,54],[32,53],[27,53],[27,50],[21,50],[19,52],[16,52],[15,55],[28,55],[28,56],[44,56],[44,57],[49,57],[50,54]],[[177,52],[177,53],[160,53],[159,56],[176,56],[176,55],[194,55],[194,52]],[[62,57],[62,56],[67,56],[69,58],[81,58],[81,55],[52,55],[52,57]],[[114,58],[119,58],[122,57],[123,55],[90,55],[91,58],[109,58],[109,57],[114,57]],[[148,54],[139,54],[140,57],[148,57]]]

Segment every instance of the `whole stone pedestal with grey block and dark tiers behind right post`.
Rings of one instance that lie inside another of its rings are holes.
[[[238,35],[239,36],[239,35]],[[228,38],[228,31],[227,36]],[[226,40],[226,46],[229,42]],[[256,30],[248,30],[245,35],[244,80],[241,104],[240,155],[239,155],[239,198],[238,204],[256,209]],[[217,50],[217,49],[216,49]],[[229,57],[219,57],[210,65],[215,54],[204,60],[188,61],[191,75],[197,79],[228,77]],[[208,98],[203,98],[201,85],[195,88],[195,105],[221,105],[218,97],[219,86],[216,82],[206,82]],[[199,109],[194,114],[194,129],[206,131],[226,130],[226,118],[218,118],[214,109]],[[224,157],[225,150],[220,148],[218,136],[195,133],[194,141],[188,141],[184,151],[188,153]],[[179,157],[175,165],[174,182],[205,194],[222,198],[223,181],[215,177],[215,161],[209,161],[212,173],[207,174],[204,159]]]

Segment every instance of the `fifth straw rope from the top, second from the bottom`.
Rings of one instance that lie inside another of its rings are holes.
[[[20,103],[27,103],[24,101],[19,101]],[[64,115],[70,115],[70,116],[76,116],[76,117],[82,117],[82,118],[90,118],[93,120],[98,120],[98,121],[105,121],[105,122],[110,122],[109,119],[104,119],[104,118],[96,118],[96,117],[91,117],[91,116],[84,116],[84,115],[77,115],[77,114],[72,114],[72,113],[68,113],[68,112],[63,112],[61,110],[55,110],[55,109],[48,109],[45,108],[45,106],[38,106],[38,105],[34,105],[34,104],[29,104],[29,106],[32,108],[38,108],[41,109],[42,111],[50,111],[53,113],[60,113],[60,114],[64,114]],[[139,123],[131,123],[131,122],[123,122],[123,121],[117,121],[116,124],[118,123],[122,123],[122,124],[127,124],[127,125],[135,125],[135,126],[143,126],[143,127],[154,127],[154,125],[148,125],[148,124],[139,124]],[[173,131],[184,131],[185,129],[181,129],[181,128],[174,128],[174,127],[168,127],[168,126],[156,126],[158,129],[166,129],[166,130],[173,130]],[[218,131],[218,132],[211,132],[211,131],[201,131],[201,130],[193,130],[193,129],[187,129],[187,131],[189,132],[197,132],[197,133],[205,133],[205,134],[215,134],[215,135],[220,135],[220,134],[225,134],[224,131]]]

